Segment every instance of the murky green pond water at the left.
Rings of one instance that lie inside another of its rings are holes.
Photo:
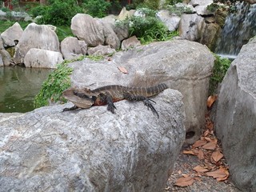
[[[34,110],[34,96],[52,70],[0,67],[0,113]]]

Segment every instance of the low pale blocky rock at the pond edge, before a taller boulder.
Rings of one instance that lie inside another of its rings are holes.
[[[63,62],[62,54],[52,50],[30,49],[25,58],[26,67],[57,68],[57,64]]]

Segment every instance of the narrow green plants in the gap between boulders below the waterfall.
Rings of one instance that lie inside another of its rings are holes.
[[[209,86],[209,94],[216,94],[216,90],[218,88],[218,84],[222,82],[226,71],[230,67],[230,59],[228,58],[221,58],[217,54],[214,54],[215,61],[214,61],[214,71],[210,77],[210,86]]]

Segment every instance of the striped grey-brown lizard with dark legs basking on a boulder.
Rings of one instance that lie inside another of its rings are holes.
[[[149,97],[159,94],[167,88],[164,83],[150,87],[102,86],[95,90],[70,88],[63,92],[63,96],[70,102],[73,102],[74,106],[65,108],[63,111],[108,105],[107,110],[114,113],[114,109],[116,109],[114,102],[126,99],[130,101],[143,101],[159,118],[158,112],[151,103],[154,101],[150,100]]]

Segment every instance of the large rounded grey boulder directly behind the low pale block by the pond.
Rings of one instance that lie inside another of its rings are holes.
[[[58,36],[49,26],[30,23],[26,26],[16,46],[14,62],[24,63],[26,53],[31,48],[60,52]]]

